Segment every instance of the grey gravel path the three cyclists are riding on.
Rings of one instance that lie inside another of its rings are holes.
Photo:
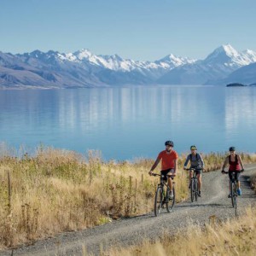
[[[256,173],[256,165],[246,166],[241,175],[242,195],[238,199],[238,212],[256,202],[256,195],[249,187],[248,178]],[[165,211],[155,218],[154,212],[134,217],[119,219],[113,223],[92,229],[64,233],[54,238],[37,241],[32,246],[20,247],[13,252],[5,251],[0,255],[83,255],[83,250],[98,255],[111,245],[129,246],[144,238],[154,239],[164,231],[175,233],[177,229],[191,223],[204,224],[209,217],[226,219],[235,217],[228,195],[228,175],[220,172],[203,173],[202,197],[197,202],[185,201],[175,206],[171,213]]]

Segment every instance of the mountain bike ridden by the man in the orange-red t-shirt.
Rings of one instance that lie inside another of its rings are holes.
[[[175,204],[175,182],[172,181],[172,198],[170,198],[171,190],[166,183],[165,175],[152,173],[152,176],[160,176],[160,183],[157,185],[154,197],[154,215],[155,217],[160,215],[161,209],[166,206],[167,212],[172,212],[172,209]],[[166,175],[166,177],[172,177],[173,175]],[[166,191],[165,191],[166,187]]]

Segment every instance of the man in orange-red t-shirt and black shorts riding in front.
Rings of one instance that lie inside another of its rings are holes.
[[[165,179],[168,180],[168,186],[171,190],[170,197],[173,197],[172,193],[172,178],[167,177],[167,175],[175,176],[177,172],[177,152],[174,151],[172,148],[174,144],[172,141],[166,141],[166,150],[163,150],[158,154],[157,159],[154,162],[154,165],[151,167],[151,170],[148,172],[149,175],[152,175],[152,172],[158,166],[161,160],[161,171],[160,173],[165,176]]]

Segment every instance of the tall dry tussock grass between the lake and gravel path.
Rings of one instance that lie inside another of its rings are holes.
[[[205,156],[209,171],[224,160],[215,158]],[[177,202],[188,195],[183,161],[175,178]],[[0,144],[0,248],[151,211],[159,182],[148,176],[153,163],[103,161],[93,150],[84,156],[42,146],[27,154]]]

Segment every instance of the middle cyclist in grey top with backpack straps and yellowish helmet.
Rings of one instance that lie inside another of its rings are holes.
[[[184,170],[186,170],[186,166],[188,165],[189,161],[190,161],[190,168],[194,168],[195,169],[195,173],[196,173],[196,177],[198,180],[198,196],[201,196],[201,172],[204,169],[204,161],[201,157],[201,154],[197,153],[196,150],[196,146],[193,145],[190,147],[191,150],[191,154],[189,154],[187,156],[187,159],[184,163]],[[189,171],[189,189],[191,186],[191,178],[193,177],[193,171]]]

